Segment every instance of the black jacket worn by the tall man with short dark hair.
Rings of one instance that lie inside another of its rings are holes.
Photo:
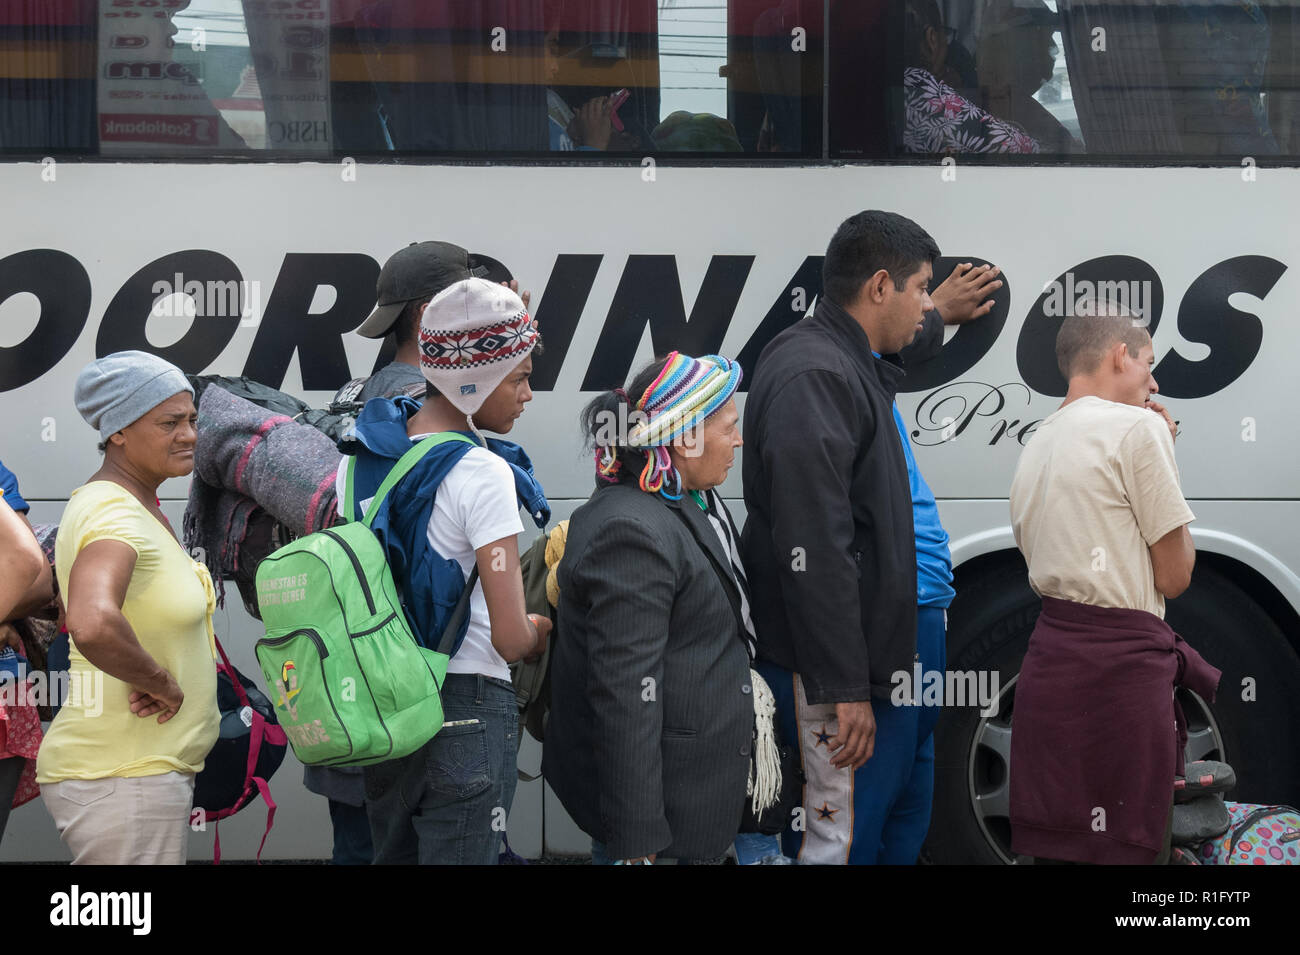
[[[907,351],[942,342],[937,312]],[[741,535],[758,655],[809,703],[888,698],[916,652],[916,544],[893,420],[897,356],[878,359],[827,299],[763,350],[745,404]]]

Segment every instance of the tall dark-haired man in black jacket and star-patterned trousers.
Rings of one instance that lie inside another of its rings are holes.
[[[937,256],[902,216],[841,223],[816,311],[763,350],[745,407],[741,546],[757,669],[807,777],[805,826],[785,843],[805,863],[892,859],[905,843],[919,848],[928,822],[928,804],[923,821],[896,813],[919,716],[889,703],[918,648],[913,495],[893,400],[898,352],[922,334],[932,347],[942,339],[941,321],[926,317]]]

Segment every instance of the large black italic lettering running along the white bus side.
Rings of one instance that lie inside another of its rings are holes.
[[[534,361],[534,391],[554,388],[604,259],[599,253],[555,257],[536,309],[546,348]],[[628,256],[604,309],[604,322],[581,390],[599,391],[623,385],[647,326],[656,352],[677,348],[705,355],[720,351],[754,259],[749,255],[712,256],[694,304],[688,305],[676,256]],[[957,261],[984,260],[978,256],[941,259],[936,264],[936,283]],[[1208,348],[1208,355],[1191,360],[1176,347],[1169,350],[1154,372],[1164,395],[1204,398],[1242,377],[1260,353],[1264,324],[1257,314],[1235,308],[1228,300],[1239,292],[1266,298],[1286,269],[1283,262],[1261,255],[1208,264],[1182,291],[1175,318],[1179,335],[1200,344],[1201,351]],[[286,253],[269,291],[260,292],[257,330],[242,373],[280,387],[295,353],[307,391],[333,391],[350,378],[368,373],[370,369],[348,366],[344,337],[373,308],[378,272],[380,264],[363,253]],[[994,344],[1001,342],[1004,348],[1013,347],[1011,333],[1002,339],[1010,314],[1011,283],[1017,279],[1014,266],[1004,269],[1004,278],[1006,286],[997,294],[997,305],[989,316],[963,325],[936,359],[913,368],[905,379],[906,391],[931,391],[926,400],[933,407],[942,400],[936,390],[962,383],[962,376]],[[178,340],[156,347],[146,337],[146,325],[151,314],[157,314],[160,290],[173,285],[176,292],[191,296],[195,317],[187,320],[190,326]],[[746,370],[755,366],[759,352],[777,333],[805,313],[820,292],[820,285],[819,256],[792,262],[784,291],[736,355]],[[195,291],[188,291],[191,286]],[[160,355],[191,374],[202,373],[222,356],[240,324],[248,324],[248,286],[238,265],[217,251],[182,249],[155,259],[117,288],[95,329],[95,353],[103,356],[138,348]],[[320,287],[333,288],[334,301],[325,312],[313,313],[311,305]],[[1023,385],[1015,383],[1017,387],[1049,396],[1065,394],[1054,353],[1060,320],[1076,300],[1102,287],[1131,296],[1128,304],[1143,316],[1156,338],[1157,352],[1161,351],[1158,326],[1166,294],[1156,270],[1134,256],[1091,259],[1045,282],[1026,312],[1014,339],[1017,370],[1023,379]],[[222,304],[213,308],[212,295],[198,294],[196,290],[203,288],[229,290],[229,295],[218,296]],[[25,340],[0,348],[0,391],[29,385],[53,369],[84,334],[90,320],[91,277],[86,266],[66,252],[36,248],[0,259],[0,304],[21,292],[39,300],[40,318]],[[380,359],[381,363],[386,360],[386,356]]]

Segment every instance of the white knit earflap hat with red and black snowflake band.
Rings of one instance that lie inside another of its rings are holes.
[[[536,344],[523,300],[485,278],[443,288],[420,316],[420,373],[467,417]]]

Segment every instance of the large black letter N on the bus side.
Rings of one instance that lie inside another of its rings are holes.
[[[686,355],[716,353],[753,265],[754,256],[714,256],[688,321],[676,257],[628,256],[582,391],[607,391],[627,381],[646,325],[656,355],[673,350]]]

